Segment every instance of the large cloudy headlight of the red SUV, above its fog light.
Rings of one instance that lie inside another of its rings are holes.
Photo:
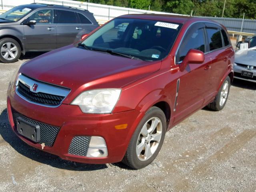
[[[111,113],[121,89],[96,89],[82,92],[73,101],[84,113]]]

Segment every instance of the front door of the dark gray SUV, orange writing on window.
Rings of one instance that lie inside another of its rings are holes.
[[[55,49],[57,27],[54,24],[53,9],[38,10],[26,19],[26,21],[29,20],[36,20],[36,24],[24,25],[26,50],[48,51]]]

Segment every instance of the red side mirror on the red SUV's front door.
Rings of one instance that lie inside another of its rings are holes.
[[[204,53],[200,50],[190,49],[180,64],[180,71],[184,71],[188,64],[201,64],[204,62]]]

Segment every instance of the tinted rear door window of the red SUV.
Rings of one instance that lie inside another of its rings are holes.
[[[220,30],[217,28],[206,28],[208,34],[208,43],[210,46],[210,51],[222,48],[222,38]]]

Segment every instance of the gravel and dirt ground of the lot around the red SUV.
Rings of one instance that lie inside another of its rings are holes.
[[[0,63],[0,192],[256,192],[256,84],[235,80],[220,112],[199,110],[166,134],[142,170],[79,164],[34,149],[10,130],[6,91],[15,69]]]

